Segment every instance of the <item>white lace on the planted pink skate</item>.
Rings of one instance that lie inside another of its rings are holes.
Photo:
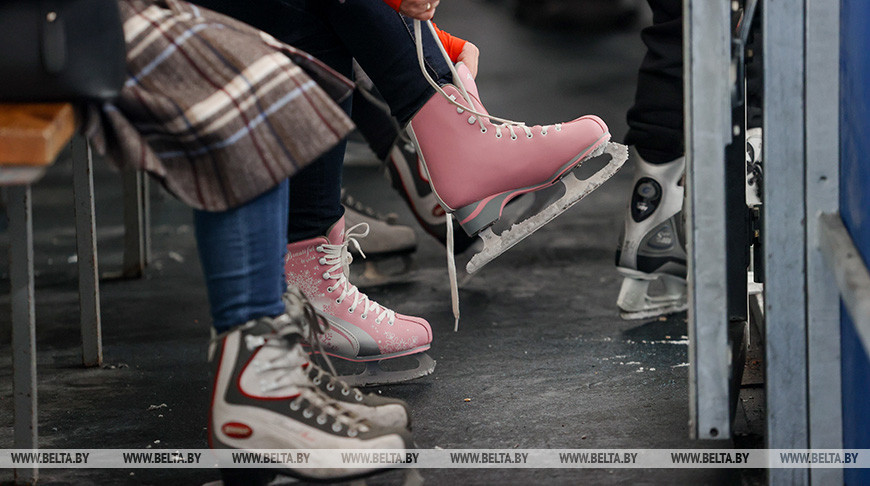
[[[357,228],[363,228],[363,231],[360,233],[354,233],[354,230]],[[352,297],[353,301],[347,309],[348,312],[353,314],[357,307],[360,307],[360,304],[362,304],[363,311],[360,316],[361,318],[367,319],[370,313],[377,314],[375,323],[380,324],[384,319],[387,319],[387,323],[392,326],[396,322],[396,313],[377,302],[370,300],[366,294],[360,292],[359,289],[356,288],[356,285],[353,285],[347,280],[347,276],[350,273],[350,263],[353,261],[353,256],[350,254],[350,251],[348,251],[348,245],[353,244],[357,251],[359,251],[360,255],[365,258],[365,253],[363,253],[362,248],[360,248],[357,238],[365,238],[368,234],[368,223],[359,223],[345,231],[344,241],[341,244],[319,245],[317,251],[326,254],[325,257],[320,259],[320,264],[332,265],[323,273],[323,279],[336,280],[335,284],[326,289],[327,292],[332,292],[338,288],[342,289],[341,295],[335,299],[336,304],[341,304],[344,302],[344,299]]]

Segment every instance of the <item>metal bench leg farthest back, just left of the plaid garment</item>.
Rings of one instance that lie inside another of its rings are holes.
[[[138,278],[150,257],[151,207],[148,176],[140,171],[124,171],[124,268],[123,278]]]

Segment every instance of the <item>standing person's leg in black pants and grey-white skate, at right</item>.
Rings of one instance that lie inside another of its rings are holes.
[[[633,145],[635,176],[616,251],[625,277],[617,306],[625,319],[686,308],[686,251],[682,224],[683,19],[681,0],[648,0],[653,25],[641,37],[647,53],[638,72],[626,143]],[[664,292],[651,295],[660,280]]]

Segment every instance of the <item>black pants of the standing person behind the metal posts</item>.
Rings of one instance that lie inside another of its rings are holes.
[[[685,153],[683,131],[683,2],[647,0],[653,25],[641,39],[647,47],[640,65],[634,106],[628,110],[629,131],[625,137],[650,163],[664,163]],[[748,127],[761,126],[761,37],[756,15],[747,62]]]

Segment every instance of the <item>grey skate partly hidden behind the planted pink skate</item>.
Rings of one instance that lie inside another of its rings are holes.
[[[350,247],[353,256],[365,256],[350,268],[353,281],[362,288],[407,282],[413,266],[411,254],[417,250],[414,230],[397,224],[395,214],[378,214],[345,192],[341,202],[348,227],[366,223],[371,230],[371,235],[359,242],[359,251]]]

